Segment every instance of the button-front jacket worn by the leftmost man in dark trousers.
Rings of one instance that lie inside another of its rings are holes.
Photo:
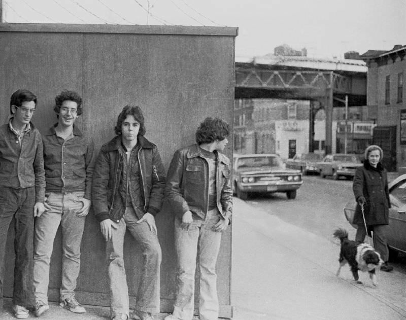
[[[0,185],[15,189],[35,187],[36,202],[44,202],[45,171],[41,134],[32,123],[21,139],[10,124],[0,126]]]

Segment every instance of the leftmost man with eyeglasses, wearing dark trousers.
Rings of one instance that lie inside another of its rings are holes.
[[[44,212],[45,172],[41,134],[30,122],[37,97],[19,89],[10,100],[7,124],[0,127],[0,311],[3,309],[4,261],[9,226],[14,218],[13,313],[28,317],[34,305],[32,254],[34,217]]]

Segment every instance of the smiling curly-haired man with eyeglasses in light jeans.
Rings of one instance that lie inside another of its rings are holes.
[[[36,315],[48,306],[49,265],[59,225],[62,231],[60,305],[75,313],[86,312],[76,300],[80,271],[80,245],[90,208],[94,146],[75,125],[82,114],[82,98],[75,91],[55,97],[58,122],[43,135],[46,178],[45,212],[35,226],[34,287]]]

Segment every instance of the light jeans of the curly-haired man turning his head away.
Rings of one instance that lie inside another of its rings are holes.
[[[193,217],[189,226],[183,226],[179,218],[175,219],[178,278],[173,314],[182,320],[191,320],[193,317],[197,256],[200,270],[199,319],[218,319],[216,262],[222,233],[212,228],[220,219],[217,208],[207,212],[205,220]]]

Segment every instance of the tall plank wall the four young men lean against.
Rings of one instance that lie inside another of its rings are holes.
[[[32,121],[44,132],[56,122],[52,110],[55,95],[63,89],[76,90],[82,94],[84,107],[76,124],[94,138],[98,151],[114,136],[122,107],[128,103],[140,105],[146,118],[145,136],[158,146],[166,169],[177,148],[194,142],[194,132],[205,117],[221,117],[233,123],[236,28],[159,27],[165,32],[147,26],[100,28],[0,24],[1,123],[8,121],[11,94],[26,88],[38,96],[38,112]],[[232,139],[226,154],[232,157]],[[161,311],[168,312],[172,311],[175,297],[176,258],[173,216],[166,204],[156,220],[163,253]],[[7,296],[11,296],[13,283],[12,237],[10,230]],[[142,266],[140,250],[128,234],[124,250],[134,300],[139,282],[137,270]],[[104,252],[105,242],[90,211],[77,289],[84,304],[109,305]],[[231,315],[230,270],[228,229],[218,259],[218,293],[224,317]],[[49,298],[53,301],[59,299],[60,273],[58,232],[51,261]]]

